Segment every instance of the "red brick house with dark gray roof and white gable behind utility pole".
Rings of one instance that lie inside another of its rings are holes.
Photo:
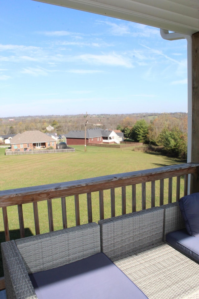
[[[85,131],[70,131],[67,135],[67,145],[84,145]],[[113,130],[88,129],[86,130],[87,143],[120,143],[119,136]]]

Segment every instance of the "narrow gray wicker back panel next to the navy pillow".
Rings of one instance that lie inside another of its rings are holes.
[[[162,207],[164,207],[163,240],[165,241],[166,234],[184,228],[185,224],[178,202],[173,202]]]

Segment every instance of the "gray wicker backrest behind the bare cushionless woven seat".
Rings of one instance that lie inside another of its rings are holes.
[[[101,249],[115,260],[160,244],[163,221],[161,207],[100,220]]]

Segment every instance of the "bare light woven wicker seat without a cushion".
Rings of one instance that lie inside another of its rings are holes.
[[[149,299],[198,299],[199,267],[162,244],[114,262]]]

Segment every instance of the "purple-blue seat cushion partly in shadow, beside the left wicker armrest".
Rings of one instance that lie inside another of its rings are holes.
[[[30,280],[39,299],[147,299],[103,253],[30,274]]]

